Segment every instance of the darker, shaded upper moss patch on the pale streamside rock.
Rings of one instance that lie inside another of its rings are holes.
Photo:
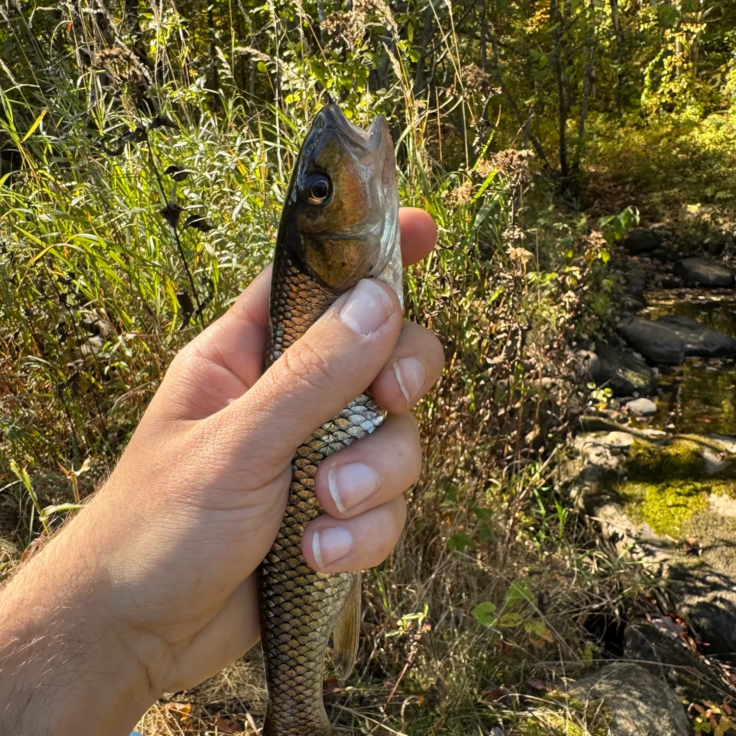
[[[662,446],[637,439],[629,448],[625,469],[629,481],[692,481],[705,475],[705,461],[697,442],[689,439],[676,439]]]

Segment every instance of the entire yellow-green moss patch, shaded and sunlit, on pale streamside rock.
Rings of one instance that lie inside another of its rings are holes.
[[[733,470],[707,475],[701,443],[693,439],[675,439],[668,445],[637,440],[624,470],[626,480],[617,491],[626,501],[626,513],[662,536],[691,533],[688,522],[707,511],[710,494],[736,498]]]

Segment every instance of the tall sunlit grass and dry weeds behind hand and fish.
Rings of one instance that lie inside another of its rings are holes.
[[[395,36],[391,11],[376,7]],[[297,1],[290,8],[302,17]],[[492,135],[474,144],[465,125],[452,132],[450,121],[477,121],[485,102],[464,87],[451,15],[442,42],[458,63],[432,100],[415,98],[397,37],[395,82],[378,95],[358,73],[369,49],[347,66],[297,53],[289,13],[266,10],[283,54],[235,51],[278,80],[271,101],[244,99],[224,57],[219,91],[191,83],[174,7],[154,18],[155,83],[124,46],[100,46],[95,11],[79,16],[76,46],[52,46],[46,68],[29,65],[24,82],[0,88],[12,151],[0,177],[0,565],[11,573],[102,484],[171,357],[269,260],[302,136],[353,74],[345,109],[362,124],[388,114],[403,202],[439,227],[436,251],[408,271],[406,309],[439,334],[447,367],[418,412],[424,473],[405,536],[370,575],[358,668],[332,687],[333,717],[412,735],[496,723],[581,732],[567,705],[550,702],[545,712],[558,715],[542,717],[539,698],[520,693],[530,677],[559,679],[597,656],[584,643],[586,612],[628,585],[624,563],[561,505],[553,475],[579,399],[567,340],[602,278],[586,226],[530,219],[526,201],[544,194],[528,191],[526,152],[500,152]],[[11,36],[30,23],[16,13]],[[96,66],[77,65],[74,49]],[[144,82],[155,114],[141,103]],[[543,388],[550,376],[567,382]],[[473,618],[484,601],[508,607],[514,586],[528,592],[513,627]],[[205,733],[227,711],[252,730],[262,690],[250,661],[160,705],[141,728]]]

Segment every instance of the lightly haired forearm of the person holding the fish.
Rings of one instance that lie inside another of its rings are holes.
[[[74,531],[0,592],[4,736],[127,736],[155,699],[138,652],[105,611],[102,573],[74,544],[83,530]]]

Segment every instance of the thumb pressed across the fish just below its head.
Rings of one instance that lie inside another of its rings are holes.
[[[273,472],[314,429],[364,392],[386,364],[401,331],[394,291],[364,279],[343,294],[216,419],[240,453]],[[265,461],[265,462],[263,462]]]

